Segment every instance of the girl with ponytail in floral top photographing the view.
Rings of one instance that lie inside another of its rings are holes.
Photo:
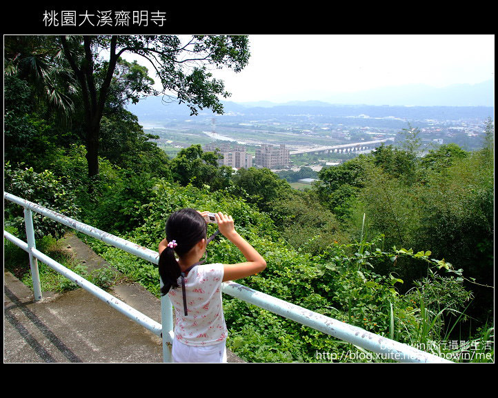
[[[199,265],[206,252],[207,214],[191,208],[172,213],[166,222],[166,239],[159,243],[159,275],[164,284],[161,294],[168,293],[175,307],[175,362],[226,362],[221,282],[248,277],[266,268],[263,257],[235,230],[232,216],[221,212],[216,214],[219,232],[239,248],[247,261]]]

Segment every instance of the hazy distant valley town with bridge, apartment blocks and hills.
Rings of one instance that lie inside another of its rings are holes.
[[[199,144],[219,150],[219,164],[238,168],[319,171],[380,145],[401,145],[399,132],[417,129],[421,154],[456,143],[464,150],[481,148],[491,107],[292,106],[246,107],[226,103],[223,115],[189,115],[180,106],[156,106],[152,101],[131,109],[143,130],[170,157]]]

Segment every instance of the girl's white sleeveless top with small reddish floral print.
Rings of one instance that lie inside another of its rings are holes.
[[[185,277],[187,316],[183,312],[181,278],[168,295],[175,307],[175,337],[188,346],[210,346],[226,339],[228,331],[221,303],[223,264],[196,266]]]

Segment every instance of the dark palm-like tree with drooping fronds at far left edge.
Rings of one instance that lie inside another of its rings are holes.
[[[44,170],[55,147],[74,142],[66,132],[75,81],[61,53],[53,37],[4,37],[3,154],[12,164]]]

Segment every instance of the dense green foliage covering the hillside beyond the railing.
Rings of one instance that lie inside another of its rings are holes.
[[[131,64],[122,67],[128,77],[143,73]],[[268,263],[261,275],[239,281],[246,286],[429,352],[450,352],[456,360],[470,344],[494,339],[491,121],[484,126],[483,148],[475,152],[448,144],[421,157],[417,129],[408,126],[396,146],[318,175],[307,168],[281,177],[257,168],[232,174],[217,166],[217,153],[199,145],[168,159],[123,108],[116,85],[99,126],[94,178],[79,131],[83,116],[76,108],[72,123],[63,121],[30,74],[21,72],[5,79],[6,191],[152,250],[163,239],[170,212],[228,212]],[[131,88],[143,78],[120,83]],[[298,191],[288,183],[298,177],[319,181]],[[19,232],[18,210],[6,206],[4,215],[6,226]],[[35,219],[35,229],[38,237],[63,234],[60,225],[43,219]],[[89,241],[114,267],[159,295],[155,266]],[[221,237],[210,243],[208,260],[242,258]],[[231,297],[224,297],[224,309],[228,346],[247,361],[322,361],[317,352],[357,361],[364,354]],[[452,340],[467,346],[445,346]],[[486,353],[494,358],[492,350]]]

